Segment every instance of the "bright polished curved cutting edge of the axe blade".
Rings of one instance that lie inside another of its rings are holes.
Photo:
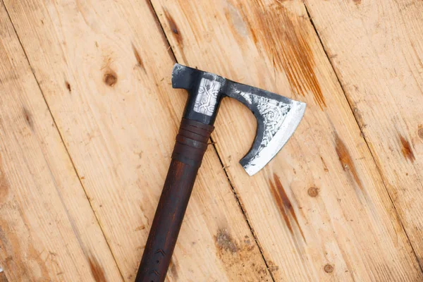
[[[276,154],[282,149],[283,145],[286,144],[290,136],[293,135],[295,129],[298,127],[298,124],[300,124],[305,112],[306,104],[293,100],[291,101],[292,104],[290,104],[288,113],[285,118],[283,118],[277,132],[274,133],[273,137],[271,137],[271,140],[267,142],[266,146],[262,147],[255,156],[249,156],[247,154],[247,156],[240,161],[240,164],[243,165],[245,171],[247,171],[250,176],[257,173],[276,156]],[[259,120],[257,121],[260,122]],[[261,128],[262,126],[263,125],[259,124],[257,128]]]

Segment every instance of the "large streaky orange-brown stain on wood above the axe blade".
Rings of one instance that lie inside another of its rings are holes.
[[[302,96],[312,92],[323,110],[326,101],[314,73],[314,54],[309,44],[315,35],[305,28],[308,18],[294,15],[278,3],[266,7],[251,5],[250,9],[247,18],[253,20],[249,30],[257,49],[264,50],[276,70],[286,73],[295,92]]]

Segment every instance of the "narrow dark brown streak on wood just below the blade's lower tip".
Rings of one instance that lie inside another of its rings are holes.
[[[279,212],[282,215],[283,220],[286,223],[290,233],[294,235],[293,226],[290,223],[290,219],[288,217],[288,213],[292,216],[293,220],[297,224],[298,230],[301,233],[302,239],[306,242],[304,233],[302,233],[302,229],[300,227],[300,223],[298,223],[297,215],[294,212],[293,205],[291,204],[288,195],[286,195],[285,189],[283,189],[281,180],[279,180],[276,173],[274,173],[274,179],[269,180],[269,185],[271,188],[271,193],[278,205]]]

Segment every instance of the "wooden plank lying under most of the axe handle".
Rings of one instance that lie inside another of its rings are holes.
[[[133,281],[186,99],[147,1],[5,1],[125,280]],[[210,147],[170,281],[269,272]]]

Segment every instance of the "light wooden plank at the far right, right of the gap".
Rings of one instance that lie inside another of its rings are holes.
[[[423,3],[307,6],[423,267]]]

